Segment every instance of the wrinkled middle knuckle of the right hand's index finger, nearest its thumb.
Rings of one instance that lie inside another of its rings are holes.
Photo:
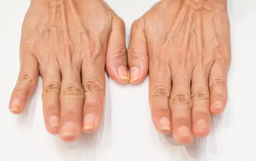
[[[156,98],[169,99],[171,95],[170,87],[165,84],[157,85],[153,87],[151,94]]]

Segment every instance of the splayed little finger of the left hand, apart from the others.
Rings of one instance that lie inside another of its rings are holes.
[[[20,73],[11,95],[9,109],[13,114],[20,114],[26,107],[29,97],[38,82],[38,61],[31,52],[24,52],[20,57]]]

